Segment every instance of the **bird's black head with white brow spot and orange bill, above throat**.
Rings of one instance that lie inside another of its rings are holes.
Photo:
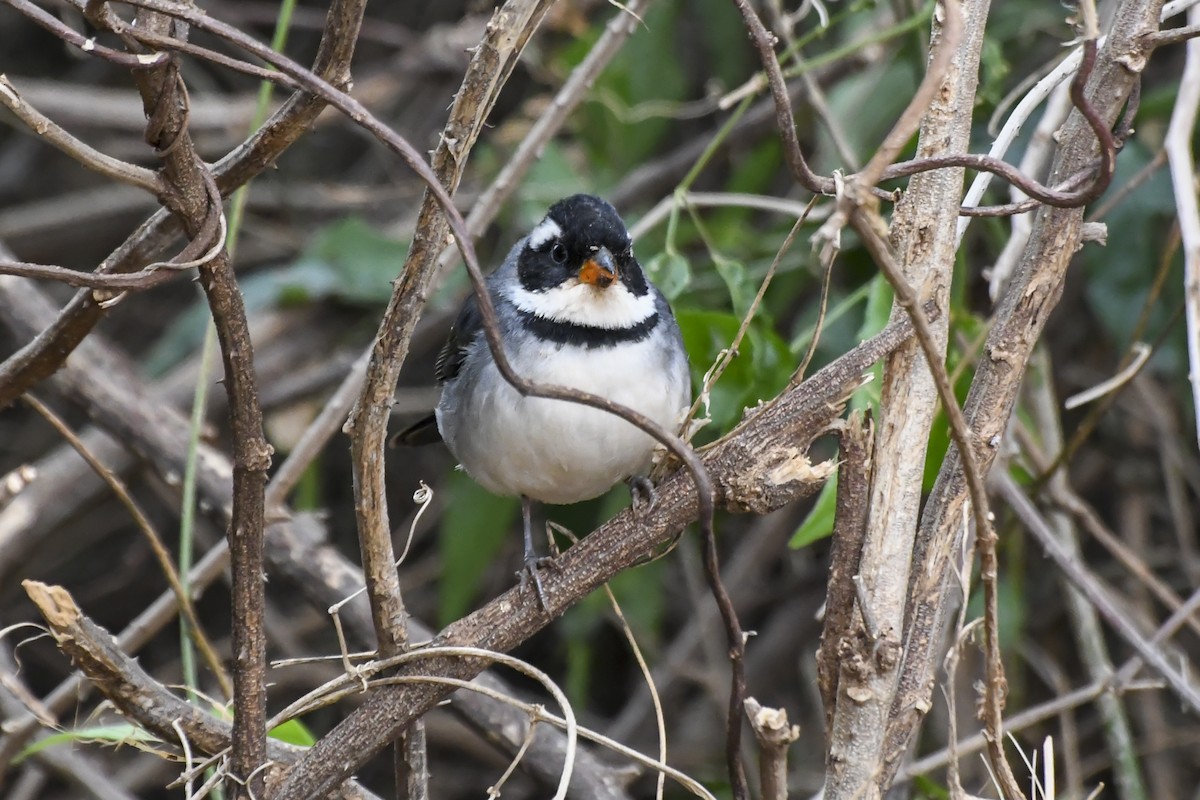
[[[550,206],[529,233],[517,275],[528,291],[546,291],[572,278],[598,290],[619,281],[640,297],[649,287],[632,243],[617,209],[590,194],[572,194]]]

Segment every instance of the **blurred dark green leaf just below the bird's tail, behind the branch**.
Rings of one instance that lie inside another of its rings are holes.
[[[491,494],[458,470],[446,479],[444,491],[438,616],[446,625],[470,609],[479,581],[509,539],[520,506],[514,498]]]

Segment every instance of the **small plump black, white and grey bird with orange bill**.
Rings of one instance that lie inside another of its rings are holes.
[[[553,204],[487,277],[500,341],[516,373],[599,395],[674,429],[691,403],[688,354],[674,314],[634,255],[617,210],[589,194]],[[484,337],[475,296],[463,303],[438,356],[433,415],[397,434],[406,445],[442,439],[487,491],[521,498],[522,585],[547,608],[533,540],[533,503],[566,505],[630,481],[649,487],[655,440],[600,409],[522,397]],[[653,495],[652,495],[653,497]]]

